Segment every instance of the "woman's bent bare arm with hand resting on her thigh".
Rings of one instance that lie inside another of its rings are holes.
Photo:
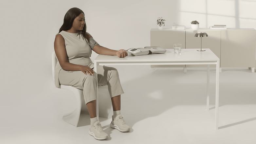
[[[54,51],[59,60],[62,69],[67,71],[82,71],[85,75],[94,75],[94,71],[89,66],[69,63],[67,60],[67,52],[65,40],[61,34],[57,34],[54,41]]]

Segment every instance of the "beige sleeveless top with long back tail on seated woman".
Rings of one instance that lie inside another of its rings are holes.
[[[90,59],[93,47],[99,45],[93,38],[89,38],[89,43],[86,39],[83,38],[82,33],[69,33],[66,31],[61,31],[61,34],[65,40],[67,58],[69,63],[79,64],[89,66],[90,68],[94,67],[92,60]],[[60,88],[59,83],[59,72],[61,70],[61,65],[57,61],[55,67],[55,86]]]

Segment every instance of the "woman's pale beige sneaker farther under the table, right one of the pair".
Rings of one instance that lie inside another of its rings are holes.
[[[120,132],[128,132],[131,130],[131,128],[124,122],[122,115],[118,115],[115,120],[113,119],[113,116],[112,116],[110,127],[113,129],[117,129]]]

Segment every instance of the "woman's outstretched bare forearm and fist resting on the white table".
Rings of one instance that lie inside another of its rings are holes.
[[[101,55],[110,55],[110,56],[115,56],[117,55],[119,58],[123,58],[128,56],[127,51],[125,51],[124,49],[120,49],[120,50],[112,50],[100,45],[95,45],[93,47],[93,51],[95,51],[97,54],[101,54]]]

